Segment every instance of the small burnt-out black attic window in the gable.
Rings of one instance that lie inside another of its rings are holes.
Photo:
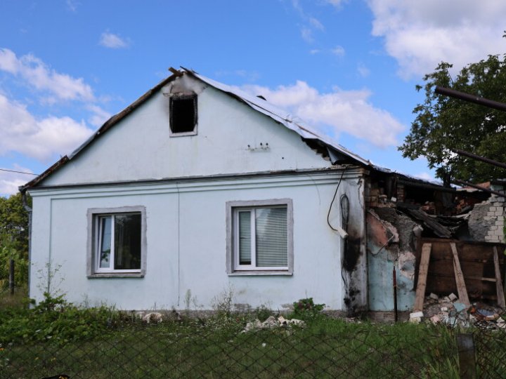
[[[197,95],[195,93],[172,95],[169,107],[172,134],[197,134]]]

